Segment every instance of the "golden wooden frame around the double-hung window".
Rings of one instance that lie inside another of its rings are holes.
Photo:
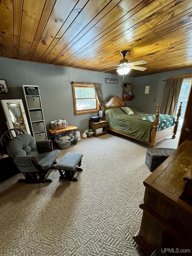
[[[98,100],[96,98],[87,98],[87,99],[95,99],[96,100],[96,108],[94,109],[86,109],[86,110],[77,110],[76,108],[76,98],[75,97],[75,87],[80,88],[93,88],[93,83],[78,83],[78,82],[72,82],[72,90],[73,90],[73,106],[74,106],[74,114],[77,115],[83,115],[83,114],[90,114],[90,113],[98,113],[100,110]]]

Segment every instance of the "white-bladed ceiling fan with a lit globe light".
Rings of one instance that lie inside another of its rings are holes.
[[[120,75],[123,75],[123,80],[124,80],[124,75],[126,75],[131,69],[135,69],[135,70],[139,70],[139,71],[144,71],[144,70],[147,69],[147,68],[135,66],[135,65],[146,64],[147,62],[143,59],[141,59],[139,61],[129,63],[129,60],[125,59],[128,52],[129,52],[128,50],[120,52],[121,56],[123,56],[123,59],[119,61],[119,65],[117,65],[117,64],[108,64],[108,65],[118,66],[118,68],[112,68],[112,69],[109,69],[109,70],[106,70],[106,71],[102,71],[101,73],[116,69],[117,72]]]

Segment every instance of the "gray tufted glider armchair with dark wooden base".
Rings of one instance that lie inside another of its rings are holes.
[[[47,177],[56,164],[59,152],[58,149],[53,150],[52,140],[35,141],[27,133],[18,134],[7,143],[8,155],[25,176],[25,179],[19,179],[18,182],[51,182]]]

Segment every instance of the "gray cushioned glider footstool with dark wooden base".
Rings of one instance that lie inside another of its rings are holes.
[[[59,179],[77,181],[77,176],[82,171],[82,168],[80,168],[82,156],[83,154],[79,153],[67,153],[64,155],[54,166],[54,169],[58,169],[61,175]]]

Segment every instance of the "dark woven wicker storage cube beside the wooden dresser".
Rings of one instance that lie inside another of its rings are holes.
[[[168,158],[175,149],[150,148],[147,149],[145,163],[149,170],[154,171],[160,164]]]

